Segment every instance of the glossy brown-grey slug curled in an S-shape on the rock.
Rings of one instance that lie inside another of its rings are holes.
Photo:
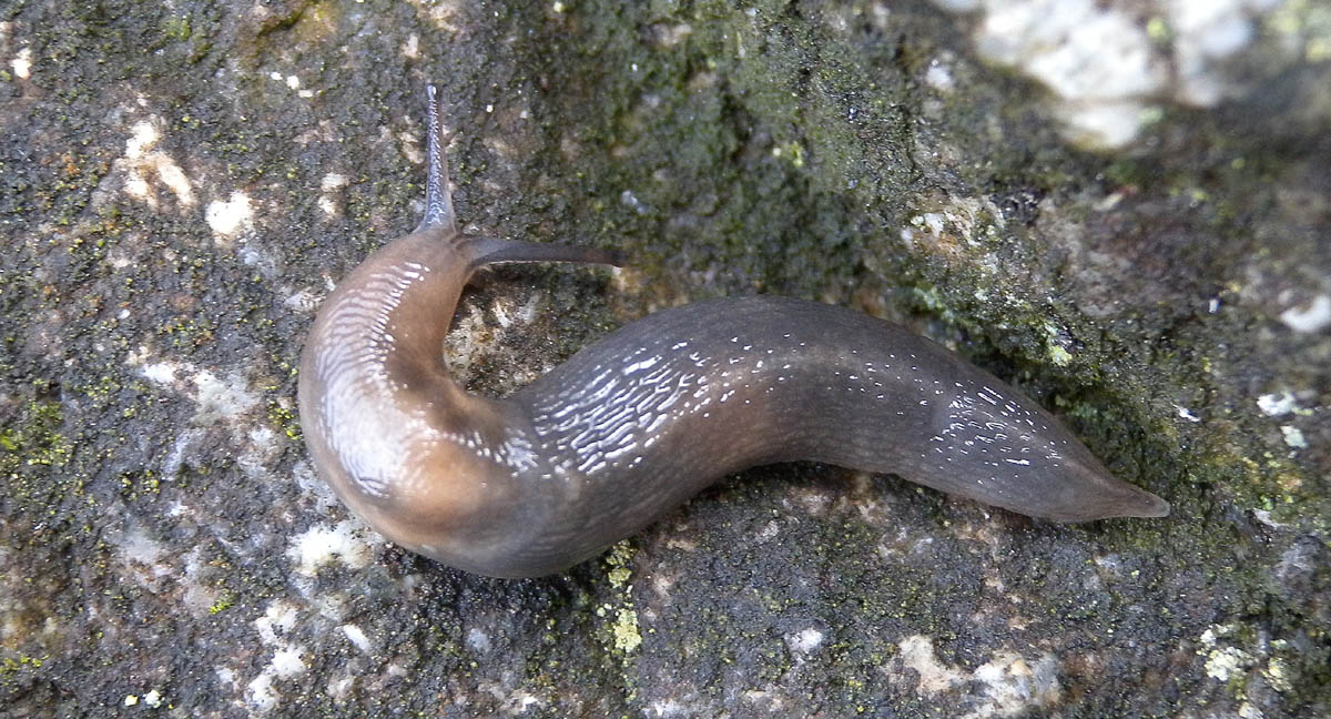
[[[655,313],[511,397],[466,393],[442,344],[473,272],[620,258],[461,233],[434,85],[427,142],[425,218],[329,294],[299,370],[314,465],[393,542],[471,573],[550,574],[729,473],[800,459],[1059,522],[1169,514],[989,373],[889,322],[800,300]]]

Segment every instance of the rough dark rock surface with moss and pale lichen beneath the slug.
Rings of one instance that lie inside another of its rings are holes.
[[[1113,152],[1046,61],[1105,52],[993,45],[1029,1],[627,5],[0,8],[7,716],[1331,711],[1327,4],[1079,5],[1165,73]],[[429,80],[465,220],[635,257],[492,273],[475,390],[654,308],[817,298],[1016,381],[1174,515],[792,465],[562,577],[385,545],[311,474],[294,367],[417,220]]]

